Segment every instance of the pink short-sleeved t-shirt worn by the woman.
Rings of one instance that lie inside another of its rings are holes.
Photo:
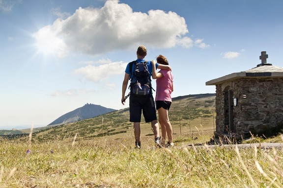
[[[162,78],[156,79],[156,96],[155,100],[170,101],[172,102],[172,84],[173,75],[171,71],[160,70],[163,74]]]

